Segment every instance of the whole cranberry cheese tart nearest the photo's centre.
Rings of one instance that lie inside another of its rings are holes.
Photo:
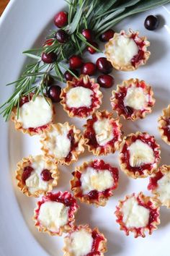
[[[85,145],[94,155],[115,153],[122,141],[119,119],[114,119],[109,111],[97,111],[84,125]]]

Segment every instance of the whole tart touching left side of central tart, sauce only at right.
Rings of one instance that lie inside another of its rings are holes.
[[[43,153],[56,163],[69,165],[77,161],[80,153],[84,152],[84,139],[81,131],[68,122],[51,124],[43,132],[40,142]]]

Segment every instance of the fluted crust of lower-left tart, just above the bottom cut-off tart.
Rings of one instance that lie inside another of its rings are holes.
[[[68,191],[65,191],[65,192],[59,191],[57,194],[59,196],[64,195],[64,197],[67,197],[67,198],[72,197],[71,193]],[[42,200],[43,200],[43,197],[42,197]],[[71,216],[68,218],[68,223],[64,226],[61,226],[59,228],[58,232],[50,231],[45,226],[40,225],[40,222],[37,219],[37,213],[39,213],[40,205],[41,205],[40,203],[41,203],[41,201],[36,203],[37,208],[35,208],[34,216],[32,218],[33,221],[35,221],[35,226],[37,227],[38,231],[43,232],[43,233],[48,233],[50,236],[62,236],[63,233],[67,233],[68,231],[73,229],[74,222],[75,222],[75,215],[76,215],[77,210],[79,210],[79,205],[77,205],[76,200],[73,203],[73,205],[69,206],[71,208]]]

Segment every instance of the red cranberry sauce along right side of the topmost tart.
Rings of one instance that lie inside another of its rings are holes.
[[[138,54],[133,56],[133,59],[131,59],[131,64],[133,65],[133,67],[136,67],[145,57],[145,51],[143,51],[143,46],[145,46],[146,43],[144,42],[144,40],[140,39],[138,35],[136,35],[136,33],[131,35],[131,38],[133,38],[139,48]]]

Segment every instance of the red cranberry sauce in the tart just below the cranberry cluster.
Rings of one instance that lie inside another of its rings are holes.
[[[69,108],[68,106],[66,106],[68,111],[73,111],[73,113],[76,116],[88,116],[91,111],[93,111],[93,109],[100,104],[99,98],[97,96],[97,93],[95,92],[96,88],[98,87],[97,83],[93,83],[90,82],[90,80],[85,84],[83,78],[81,78],[81,80],[73,80],[73,84],[72,87],[78,87],[78,86],[82,86],[84,88],[88,88],[93,92],[93,95],[91,95],[91,106],[86,107],[86,106],[82,106],[80,108]],[[64,98],[65,98],[65,103],[66,103],[66,93],[63,94]]]

